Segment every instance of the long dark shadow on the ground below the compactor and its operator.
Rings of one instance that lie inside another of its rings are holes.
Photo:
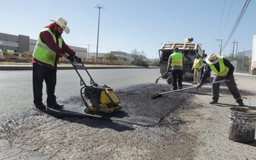
[[[113,120],[115,120],[114,118],[124,118],[125,116],[128,116],[124,111],[118,111],[118,113],[113,116],[85,115],[74,111],[68,111],[66,109],[42,109],[41,111],[54,116],[55,118],[67,120],[72,123],[87,125],[88,127],[99,129],[109,128],[118,132],[134,130],[133,127],[129,127],[126,124],[113,122]]]

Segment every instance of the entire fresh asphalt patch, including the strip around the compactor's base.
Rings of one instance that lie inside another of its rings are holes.
[[[174,92],[164,94],[158,99],[151,99],[150,97],[156,93],[168,92],[170,86],[162,84],[144,84],[132,86],[125,90],[116,91],[116,95],[120,99],[122,109],[116,115],[89,115],[84,113],[84,104],[80,96],[61,97],[58,98],[58,103],[64,104],[63,109],[44,109],[45,113],[56,116],[57,118],[102,118],[106,120],[117,120],[131,124],[140,125],[156,125],[165,116],[172,113],[193,98],[195,94],[209,95],[211,88],[192,88],[184,90],[184,92]],[[230,94],[228,88],[221,88],[220,93]],[[241,91],[243,95],[250,93]],[[90,104],[89,100],[86,100]]]

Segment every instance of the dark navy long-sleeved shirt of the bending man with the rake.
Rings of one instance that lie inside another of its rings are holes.
[[[233,75],[235,68],[234,68],[234,66],[230,63],[230,61],[228,61],[226,58],[223,58],[223,63],[224,63],[224,65],[225,65],[226,67],[229,68],[228,74],[227,74],[227,76],[225,77],[225,79],[229,79],[229,76],[232,76],[232,75]],[[216,70],[218,70],[218,71],[220,72],[220,65],[219,65],[219,63],[214,64],[214,67],[216,68]],[[205,72],[204,72],[204,74],[203,74],[203,76],[202,76],[202,79],[201,79],[201,81],[200,81],[200,84],[203,84],[203,83],[204,83],[204,81],[205,81],[205,79],[207,78],[207,76],[208,76],[208,74],[210,73],[210,71],[211,71],[211,67],[210,67],[210,65],[207,64],[207,67],[206,67]]]

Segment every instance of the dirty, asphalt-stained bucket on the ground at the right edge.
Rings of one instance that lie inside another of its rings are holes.
[[[230,108],[229,139],[251,143],[255,138],[256,111],[247,108]]]

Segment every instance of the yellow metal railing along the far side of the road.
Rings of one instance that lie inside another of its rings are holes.
[[[0,52],[1,53],[1,52]],[[33,54],[30,53],[20,53],[20,52],[3,52],[3,56],[0,56],[0,61],[15,61],[19,60],[22,61],[24,60],[25,62],[30,62],[33,58]],[[10,55],[12,54],[12,55]],[[13,55],[14,54],[14,55]],[[19,54],[18,56],[15,54]],[[83,63],[87,64],[100,64],[100,65],[127,65],[129,61],[120,61],[120,60],[105,60],[105,59],[97,59],[97,58],[83,58],[79,57],[82,59]],[[23,62],[23,61],[22,61]],[[60,58],[60,63],[69,63],[69,60],[67,58]]]

